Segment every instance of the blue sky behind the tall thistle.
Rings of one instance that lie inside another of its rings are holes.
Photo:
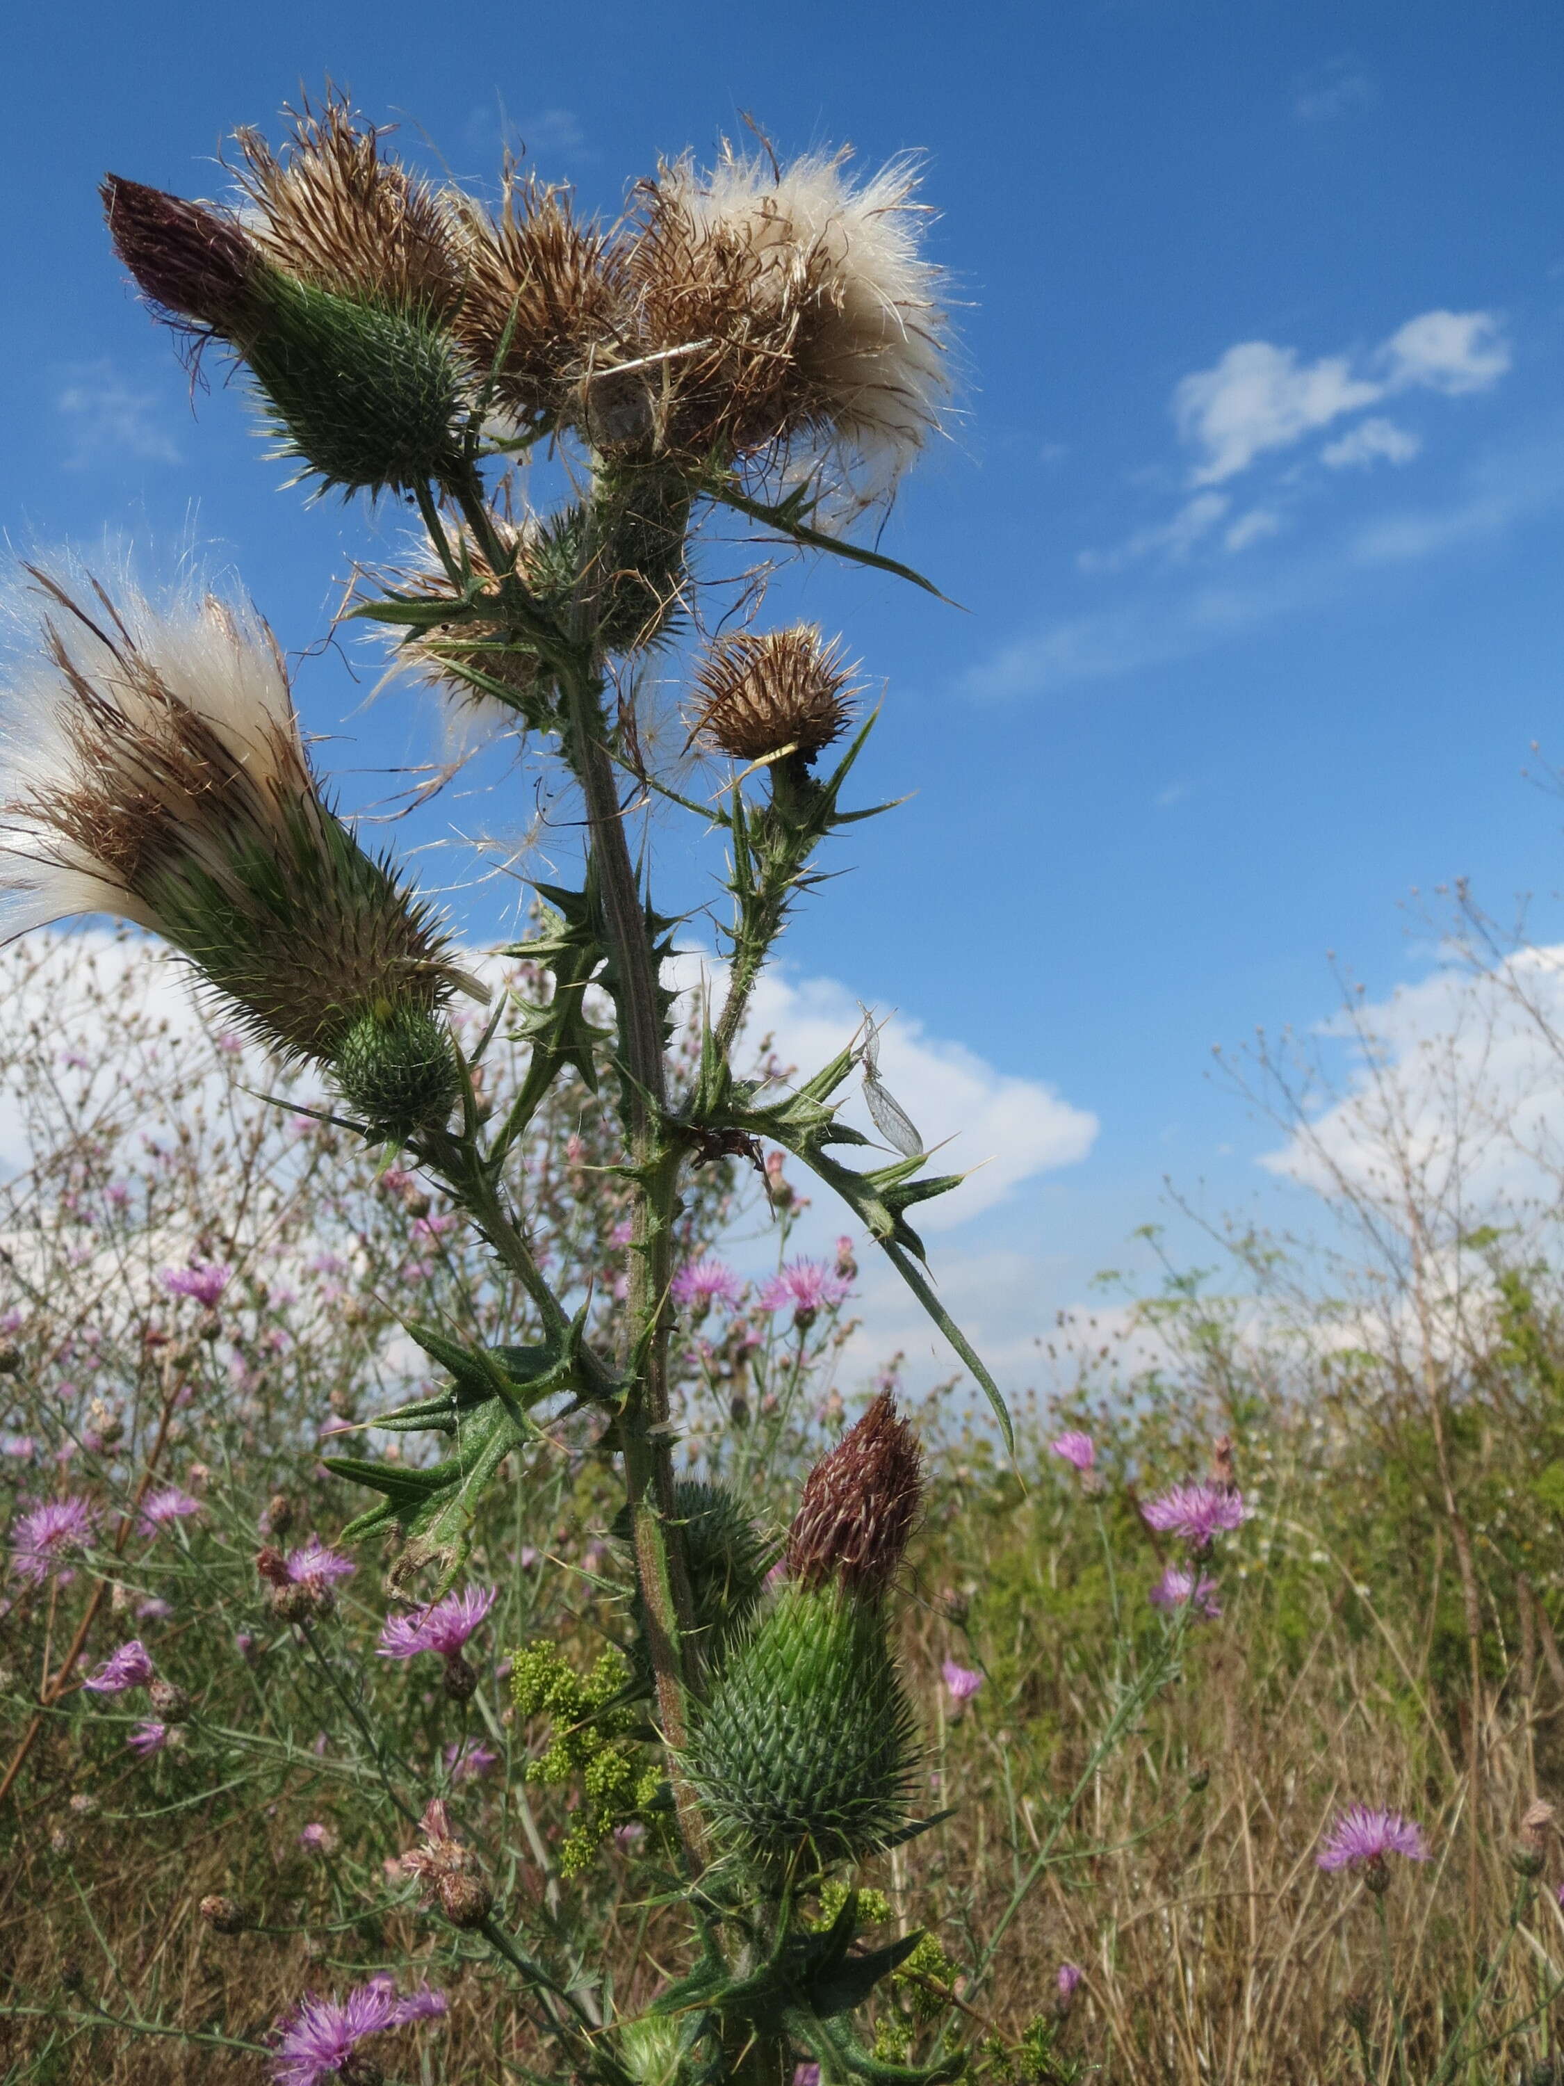
[[[298,649],[394,517],[279,492],[234,390],[192,417],[108,254],[104,167],[217,194],[223,134],[327,75],[461,177],[519,138],[609,211],[742,111],[784,152],[928,152],[961,413],[884,542],[966,613],[861,574],[780,592],[884,676],[865,786],[918,793],[799,922],[788,1005],[861,995],[930,1062],[963,1047],[988,1149],[1005,1095],[1030,1108],[1036,1166],[949,1233],[1005,1337],[1122,1260],[1164,1172],[1212,1204],[1280,1193],[1209,1047],[1324,1016],[1328,949],[1374,991],[1418,976],[1412,887],[1533,891],[1558,926],[1558,809],[1520,780],[1531,741],[1564,753],[1547,0],[473,0],[448,31],[402,0],[90,0],[19,19],[8,56],[4,526],[211,540]],[[304,665],[350,803],[434,743],[419,699],[361,697],[336,657]],[[421,836],[480,822],[503,805],[446,799]],[[701,874],[674,864],[684,903]],[[494,928],[492,887],[463,903]]]

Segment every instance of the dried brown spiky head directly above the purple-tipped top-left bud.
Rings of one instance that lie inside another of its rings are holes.
[[[446,211],[427,181],[382,150],[388,134],[336,92],[284,117],[279,152],[248,125],[234,134],[246,229],[265,259],[338,296],[453,313],[463,271]]]

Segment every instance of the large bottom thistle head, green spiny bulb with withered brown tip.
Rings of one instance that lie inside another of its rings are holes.
[[[918,1512],[920,1462],[882,1393],[811,1471],[788,1581],[697,1711],[690,1779],[719,1834],[761,1863],[855,1861],[907,1823],[918,1731],[884,1596]]]

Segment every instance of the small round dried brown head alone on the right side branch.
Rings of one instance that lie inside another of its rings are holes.
[[[697,670],[690,736],[736,761],[786,749],[811,761],[847,730],[855,693],[840,638],[826,645],[817,624],[744,630],[717,638]]]

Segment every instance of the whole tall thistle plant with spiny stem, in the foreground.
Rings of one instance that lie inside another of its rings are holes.
[[[478,1673],[463,1644],[492,1596],[459,1581],[484,1496],[532,1483],[567,1421],[619,1471],[626,1648],[586,1675],[559,1648],[519,1652],[515,1711],[553,1719],[540,1779],[582,1781],[561,1867],[590,1865],[628,1821],[661,1834],[688,1894],[692,1967],[651,2013],[605,2013],[573,1982],[559,1905],[530,1925],[526,1907],[507,1915],[440,1798],[407,1811],[423,1838],[402,1869],[430,1905],[521,1980],[561,2063],[605,2086],[651,2069],[784,2082],[801,2061],[832,2086],[953,2076],[951,2048],[913,2071],[853,2028],[920,1946],[915,1932],[855,1946],[853,1888],[855,1865],[926,1823],[893,1644],[918,1441],[882,1393],[809,1475],[774,1571],[744,1500],[676,1481],[669,1360],[676,1312],[730,1293],[678,1279],[697,1170],[738,1158],[774,1179],[767,1154],[786,1154],[853,1212],[1009,1427],[909,1220],[959,1177],[930,1174],[880,1087],[874,1022],[795,1083],[740,1056],[755,983],[826,878],[832,836],[886,809],[849,801],[874,724],[857,670],[815,626],[701,642],[759,597],[744,582],[724,601],[724,582],[701,578],[713,515],[928,586],[847,534],[936,432],[949,386],[915,177],[895,165],[857,181],[845,156],[726,150],[709,171],[661,165],[613,225],[584,223],[567,192],[513,169],[492,211],[398,163],[336,96],[294,115],[282,150],[240,131],[234,173],[223,204],[108,175],[113,246],[190,350],[236,361],[300,484],[417,511],[411,567],[361,574],[350,615],[438,697],[521,726],[526,757],[576,795],[576,878],[538,884],[536,935],[503,951],[546,983],[490,997],[471,976],[482,962],[338,816],[248,603],[198,588],[158,601],[79,561],[19,576],[0,774],[10,924],[111,912],[161,937],[225,1018],[284,1068],[319,1074],[315,1118],[361,1139],[388,1177],[440,1191],[521,1297],[519,1337],[503,1343],[409,1320],[442,1383],[377,1425],[398,1450],[436,1435],[436,1460],[325,1458],[375,1494],[344,1542],[386,1542],[407,1608],[384,1629],[386,1658],[438,1652],[444,1692],[467,1702]],[[536,496],[548,463],[553,509]],[[665,678],[680,649],[699,797],[655,757],[669,720],[644,665],[663,653]],[[653,801],[717,836],[732,899],[726,991],[688,1064],[665,974],[680,922],[659,912],[651,849],[632,845]],[[459,995],[488,1003],[475,1035],[455,1018]],[[496,1112],[486,1056],[500,1030],[530,1060]],[[857,1072],[874,1120],[895,1124],[888,1162],[842,1158],[870,1147],[840,1116]],[[624,1208],[626,1266],[609,1323],[551,1279],[517,1164],[561,1078],[601,1091],[617,1118],[605,1193]],[[803,1352],[845,1279],[795,1262],[778,1285],[761,1304],[792,1310]],[[90,1533],[40,1510],[25,1554],[42,1575]],[[350,1560],[267,1544],[256,1567],[277,1625],[315,1644]],[[136,1685],[133,1650],[96,1685]],[[131,1740],[177,1742],[167,1702]],[[507,1917],[528,1927],[521,1942]],[[277,2076],[332,2061],[346,2076],[357,2040],[415,2005],[390,1988],[304,2005]]]

